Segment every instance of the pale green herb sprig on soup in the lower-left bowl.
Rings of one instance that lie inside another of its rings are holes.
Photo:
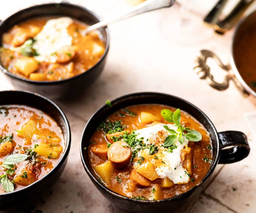
[[[4,159],[1,167],[4,168],[5,174],[0,176],[1,184],[4,187],[5,192],[13,192],[13,183],[8,179],[7,175],[14,173],[14,164],[24,161],[28,156],[26,154],[13,154]]]

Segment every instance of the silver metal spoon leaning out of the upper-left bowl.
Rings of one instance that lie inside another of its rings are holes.
[[[107,26],[110,23],[120,21],[122,19],[130,18],[132,16],[139,15],[141,13],[146,13],[152,10],[157,10],[164,7],[171,7],[174,4],[175,0],[147,0],[135,7],[133,7],[132,10],[127,12],[126,14],[123,14],[121,16],[113,17],[107,20],[103,20],[101,22],[98,22],[96,24],[93,24],[89,27],[87,27],[84,30],[80,30],[80,34],[82,36],[85,36],[86,34],[92,32],[93,30],[100,29],[102,27]]]

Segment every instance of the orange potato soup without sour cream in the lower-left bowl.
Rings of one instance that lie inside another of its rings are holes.
[[[63,146],[60,127],[42,111],[23,105],[0,106],[0,194],[47,174]]]

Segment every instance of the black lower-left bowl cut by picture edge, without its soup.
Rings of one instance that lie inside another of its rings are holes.
[[[36,182],[14,192],[0,194],[0,211],[10,208],[28,208],[33,206],[36,198],[49,192],[58,181],[66,163],[71,143],[69,123],[62,110],[51,100],[31,92],[1,91],[0,105],[21,104],[42,110],[50,115],[60,126],[65,142],[63,155],[53,169]]]

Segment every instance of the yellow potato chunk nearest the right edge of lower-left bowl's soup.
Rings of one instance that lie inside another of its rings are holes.
[[[63,148],[60,145],[45,142],[38,144],[38,146],[35,148],[37,154],[53,159],[59,158],[59,155],[62,152],[62,150]]]

